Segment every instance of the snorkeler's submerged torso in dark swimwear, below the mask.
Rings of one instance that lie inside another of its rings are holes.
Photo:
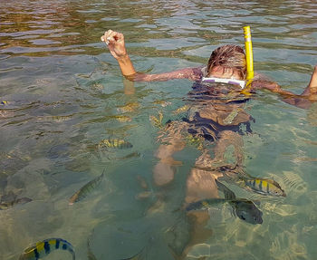
[[[188,133],[212,141],[223,130],[240,134],[252,132],[250,121],[254,119],[244,109],[249,99],[240,86],[195,82],[193,90],[187,94],[189,109],[187,117],[183,118],[189,124]],[[245,131],[242,125],[245,125]]]

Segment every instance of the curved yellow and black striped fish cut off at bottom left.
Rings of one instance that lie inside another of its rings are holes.
[[[48,238],[30,246],[20,255],[19,260],[37,260],[49,255],[54,249],[67,250],[72,254],[72,260],[75,260],[75,252],[72,244],[62,238]]]

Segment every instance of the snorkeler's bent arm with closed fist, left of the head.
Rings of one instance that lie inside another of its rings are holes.
[[[162,82],[172,79],[197,81],[202,76],[201,68],[185,68],[174,72],[159,74],[136,72],[127,53],[123,34],[108,30],[101,36],[101,41],[107,44],[110,53],[118,61],[122,75],[131,81]]]

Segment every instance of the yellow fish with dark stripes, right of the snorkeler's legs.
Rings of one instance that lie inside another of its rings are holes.
[[[268,178],[244,178],[245,185],[263,195],[283,196],[286,194],[281,186],[273,179]]]

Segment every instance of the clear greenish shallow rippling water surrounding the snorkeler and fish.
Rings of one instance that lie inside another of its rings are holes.
[[[139,71],[207,63],[216,46],[243,44],[245,24],[252,28],[256,71],[284,89],[301,93],[316,63],[314,1],[1,1],[0,7],[0,98],[8,101],[0,111],[0,195],[12,191],[34,200],[0,211],[1,259],[16,259],[48,237],[70,241],[78,259],[87,259],[87,239],[98,259],[126,258],[145,245],[147,259],[173,259],[168,244],[183,245],[189,237],[187,220],[175,209],[199,152],[190,146],[178,152],[175,159],[183,165],[175,180],[156,187],[158,129],[149,116],[162,111],[163,121],[175,119],[171,111],[184,104],[192,82],[124,88],[118,64],[100,42],[105,30],[125,34]],[[127,104],[133,104],[131,111]],[[304,111],[260,92],[247,110],[256,121],[254,134],[244,136],[245,170],[274,178],[287,197],[231,187],[237,197],[261,201],[264,223],[248,225],[221,207],[207,224],[213,236],[197,254],[313,259],[317,108]],[[133,148],[89,149],[113,136]],[[122,159],[132,152],[139,156]],[[103,169],[101,186],[69,207],[73,192]],[[147,198],[138,197],[144,192],[138,176],[147,182]],[[157,205],[159,194],[165,194],[164,203]],[[176,221],[181,224],[175,231]],[[47,259],[71,256],[54,252]]]

